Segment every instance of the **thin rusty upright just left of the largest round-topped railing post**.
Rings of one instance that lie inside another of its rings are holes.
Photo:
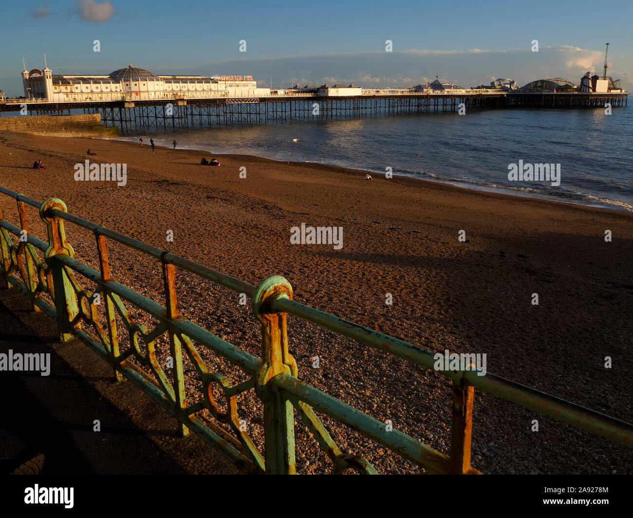
[[[164,254],[163,254],[164,255]],[[180,317],[176,301],[176,268],[174,265],[163,261],[163,283],[165,284],[165,308],[168,319]],[[182,371],[182,344],[180,339],[172,331],[172,326],[168,325],[170,354],[173,358],[173,394],[176,401],[177,412],[187,406],[187,396],[185,395],[185,377]],[[189,428],[179,421],[178,431],[180,436],[189,435]]]

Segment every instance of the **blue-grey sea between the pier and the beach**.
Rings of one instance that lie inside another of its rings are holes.
[[[496,193],[633,212],[633,109],[482,110],[142,130],[159,146],[351,167]],[[560,164],[560,185],[508,179]],[[391,168],[391,169],[389,169]]]

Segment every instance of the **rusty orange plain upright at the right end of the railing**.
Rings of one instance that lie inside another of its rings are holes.
[[[453,382],[453,429],[451,431],[451,471],[467,474],[470,471],[470,440],[472,435],[473,399],[475,388],[465,379]]]

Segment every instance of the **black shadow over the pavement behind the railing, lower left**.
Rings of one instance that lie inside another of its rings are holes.
[[[28,325],[25,309],[17,290],[0,288],[0,353],[50,354],[50,375],[0,372],[0,474],[34,453],[44,454],[41,474],[184,473],[56,353],[55,338]],[[95,420],[101,431],[94,431]],[[175,430],[151,434],[175,436]]]

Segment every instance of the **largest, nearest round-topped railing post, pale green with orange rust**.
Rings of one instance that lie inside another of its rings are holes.
[[[297,363],[288,352],[286,313],[274,312],[277,298],[292,299],[292,286],[274,275],[253,294],[253,313],[261,322],[262,362],[256,390],[264,403],[264,434],[267,474],[295,474],[294,409],[284,393],[270,382],[277,374],[297,376]]]

